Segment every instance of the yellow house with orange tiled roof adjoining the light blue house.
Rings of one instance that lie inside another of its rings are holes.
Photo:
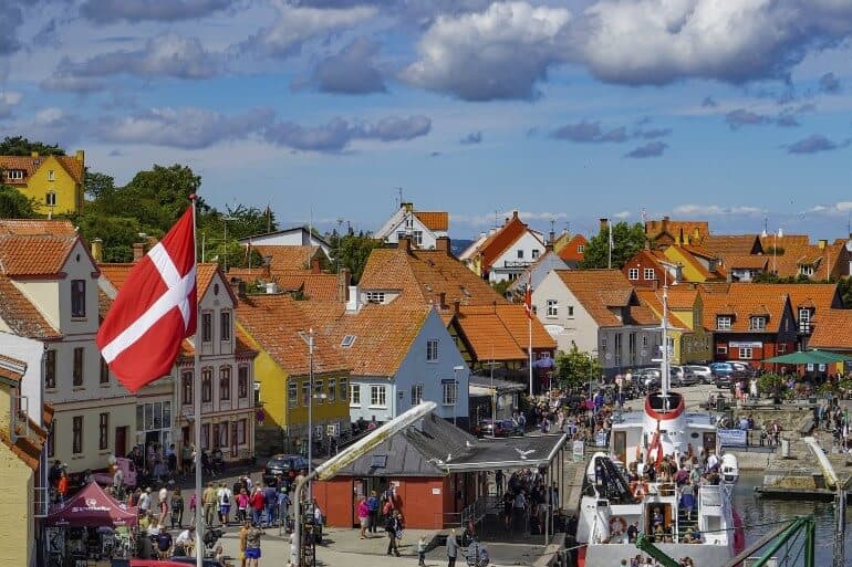
[[[351,429],[350,368],[320,333],[313,333],[311,356],[312,325],[299,304],[287,295],[260,294],[241,297],[237,307],[237,325],[259,353],[254,380],[263,421],[256,428],[256,447],[270,453],[304,449],[309,403],[314,440],[323,447]]]

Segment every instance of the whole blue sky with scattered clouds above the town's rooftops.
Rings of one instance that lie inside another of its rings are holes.
[[[397,188],[470,238],[519,209],[837,238],[849,0],[0,0],[0,135],[122,183],[374,230]]]

